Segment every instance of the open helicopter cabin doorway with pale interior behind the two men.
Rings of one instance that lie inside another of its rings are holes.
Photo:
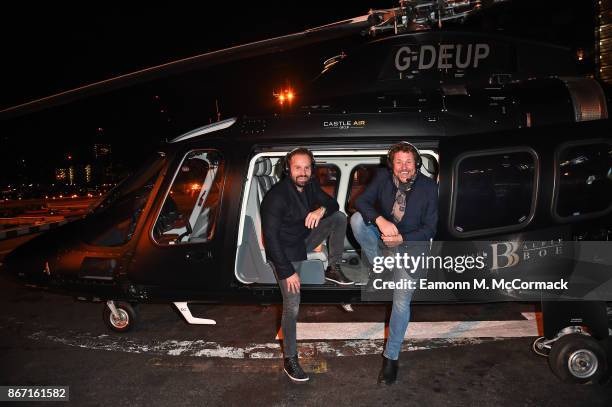
[[[288,150],[289,151],[289,150]],[[238,248],[234,274],[243,284],[272,284],[277,280],[267,261],[261,229],[260,205],[265,194],[282,179],[283,158],[288,151],[261,152],[249,162],[240,212]],[[311,150],[315,157],[313,177],[323,191],[338,202],[340,211],[350,217],[357,197],[365,190],[379,168],[386,166],[387,149]],[[432,149],[419,150],[423,159],[421,173],[438,178],[438,153]],[[350,225],[345,236],[342,270],[357,285],[365,284],[367,271],[360,264],[358,245],[352,238]],[[325,285],[327,267],[326,243],[307,254],[307,260],[294,262],[302,284]],[[335,287],[335,286],[334,286]],[[351,289],[351,286],[345,287]]]

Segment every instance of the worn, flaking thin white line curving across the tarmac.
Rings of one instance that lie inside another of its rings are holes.
[[[91,333],[66,332],[62,336],[39,331],[28,336],[32,340],[46,340],[66,346],[113,352],[155,354],[162,356],[191,356],[228,359],[281,359],[280,343],[249,344],[243,347],[226,346],[204,340],[190,341],[148,341],[143,342],[125,336],[94,335]],[[413,352],[437,348],[478,345],[485,342],[501,341],[506,338],[449,338],[412,340],[402,345],[402,352]],[[384,341],[350,340],[336,342],[298,342],[300,357],[342,357],[379,355]]]

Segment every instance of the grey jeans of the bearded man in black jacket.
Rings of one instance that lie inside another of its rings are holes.
[[[344,236],[346,235],[346,215],[340,211],[321,219],[304,243],[306,250],[312,251],[329,237],[329,264],[340,263],[344,251]],[[291,293],[285,280],[279,280],[278,285],[283,294],[283,352],[285,357],[297,356],[297,315],[300,311],[300,293]]]

